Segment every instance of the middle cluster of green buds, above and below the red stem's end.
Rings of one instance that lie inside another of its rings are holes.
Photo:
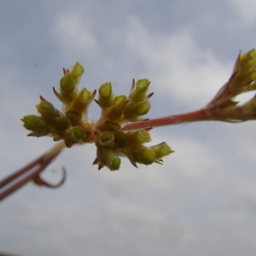
[[[143,115],[148,113],[150,103],[148,98],[148,79],[140,79],[135,84],[132,81],[130,96],[114,96],[110,83],[102,84],[99,89],[98,99],[95,100],[102,108],[102,117],[96,123],[96,160],[94,164],[98,169],[108,166],[111,171],[119,169],[120,156],[127,157],[133,166],[137,163],[151,165],[161,163],[161,158],[171,154],[172,149],[161,143],[153,147],[144,144],[151,141],[147,130],[122,131],[121,127],[127,122],[145,120]]]

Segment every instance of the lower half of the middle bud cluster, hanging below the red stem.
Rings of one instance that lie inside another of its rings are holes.
[[[146,147],[144,144],[150,141],[151,137],[144,129],[128,132],[103,131],[96,138],[97,152],[93,164],[97,164],[99,170],[108,166],[111,171],[116,171],[120,166],[120,156],[126,156],[136,167],[137,163],[146,166],[161,164],[162,158],[173,152],[172,148],[166,143]]]

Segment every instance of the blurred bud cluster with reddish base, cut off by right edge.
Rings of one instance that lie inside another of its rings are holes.
[[[243,122],[256,119],[256,98],[239,104],[236,96],[256,90],[256,49],[238,55],[230,80],[224,84],[208,104],[209,119],[229,122]]]

